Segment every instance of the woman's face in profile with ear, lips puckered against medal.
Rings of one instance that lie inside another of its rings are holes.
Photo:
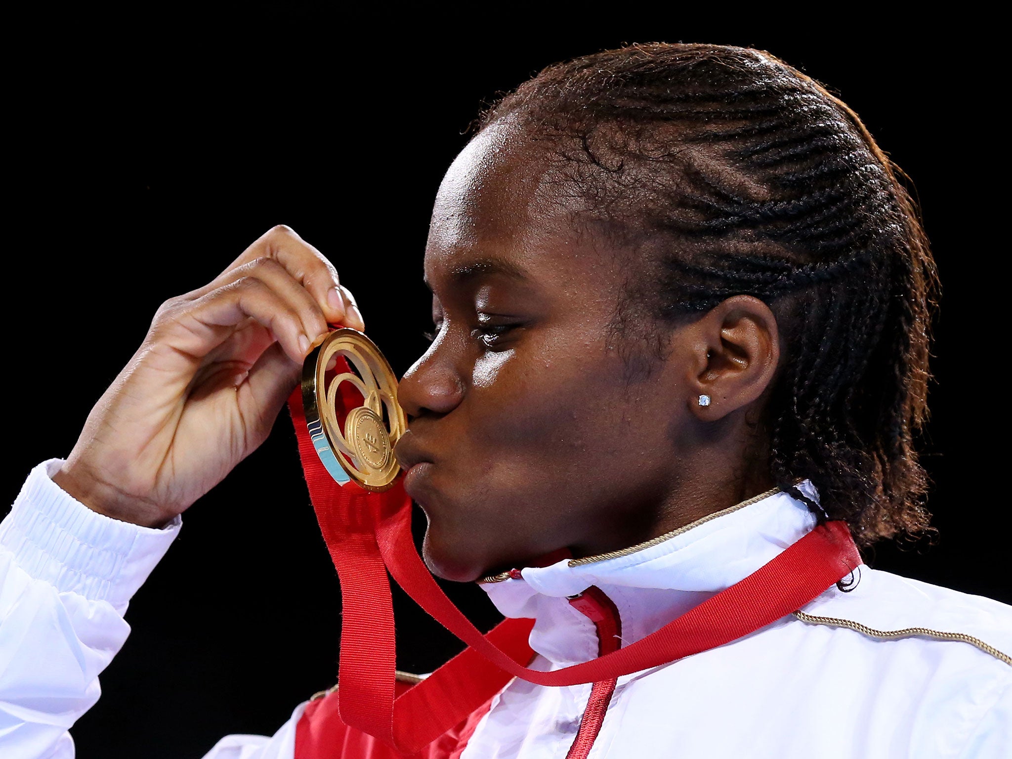
[[[666,330],[664,360],[647,360],[643,330],[612,328],[627,258],[578,229],[546,171],[542,148],[494,123],[435,200],[437,330],[401,382],[397,455],[428,518],[425,561],[450,580],[622,547],[730,505],[712,500],[740,463],[729,441],[776,367],[773,316],[746,297]],[[650,370],[630,371],[638,356]]]

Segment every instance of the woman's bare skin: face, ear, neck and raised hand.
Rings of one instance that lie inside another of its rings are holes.
[[[401,382],[395,452],[428,517],[425,561],[450,580],[624,547],[770,487],[747,476],[779,360],[769,308],[731,298],[648,360],[642,330],[609,329],[624,259],[576,228],[549,176],[543,148],[495,124],[433,209],[437,334]],[[327,321],[362,328],[334,267],[275,228],[163,306],[57,482],[109,516],[166,523],[264,439]]]

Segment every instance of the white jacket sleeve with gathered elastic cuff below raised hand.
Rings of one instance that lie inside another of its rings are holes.
[[[130,632],[123,619],[130,599],[181,524],[177,517],[151,529],[92,511],[50,479],[61,463],[52,459],[32,470],[0,522],[4,759],[74,756],[68,731],[98,700],[98,675]],[[265,750],[272,743],[281,748],[284,733],[279,740],[230,736],[208,757],[283,757]]]

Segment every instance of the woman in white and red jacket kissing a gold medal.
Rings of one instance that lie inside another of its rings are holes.
[[[631,646],[817,524],[860,544],[926,528],[912,436],[936,285],[897,176],[853,111],[751,50],[610,51],[486,114],[436,197],[436,332],[401,383],[396,452],[428,567],[533,617],[535,669]],[[12,750],[72,754],[126,602],[328,322],[364,328],[327,259],[272,230],[159,311],[70,457],[32,473],[0,532],[19,599],[0,650],[33,662],[0,688]],[[1010,622],[862,567],[662,667],[514,680],[420,755],[997,757]],[[396,755],[320,713],[208,756]]]

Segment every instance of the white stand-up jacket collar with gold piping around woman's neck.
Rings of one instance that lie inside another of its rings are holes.
[[[815,497],[808,481],[798,487]],[[567,596],[600,588],[618,609],[628,646],[743,580],[815,524],[804,503],[776,491],[624,551],[529,567],[482,587],[505,616],[532,617],[531,648],[566,666],[593,659],[598,645],[593,623]]]

